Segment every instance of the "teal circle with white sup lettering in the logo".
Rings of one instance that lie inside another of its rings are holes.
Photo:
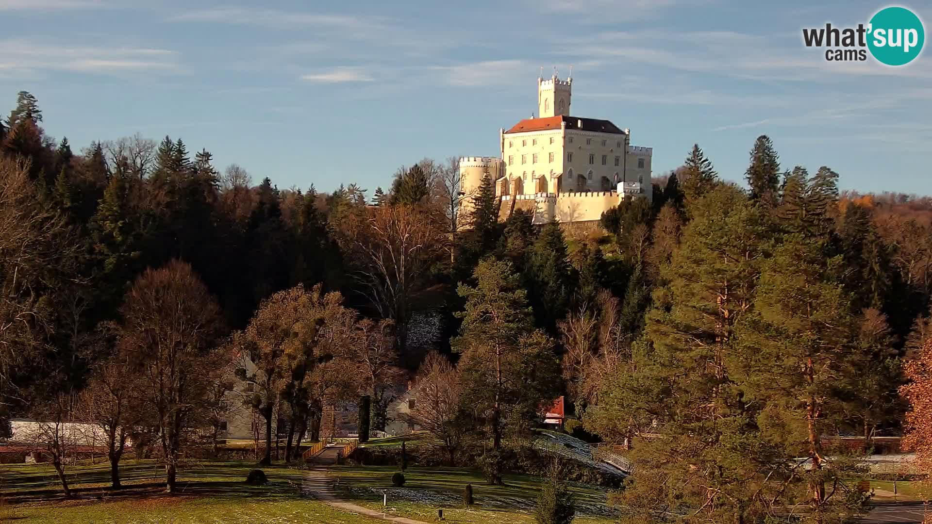
[[[906,7],[885,7],[870,19],[868,48],[878,62],[912,62],[925,43],[923,22]]]

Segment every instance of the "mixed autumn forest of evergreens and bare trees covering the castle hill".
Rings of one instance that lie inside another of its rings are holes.
[[[132,434],[174,490],[185,447],[215,446],[231,368],[264,462],[274,411],[292,460],[330,402],[384,430],[403,375],[425,388],[412,419],[490,483],[563,395],[568,432],[635,464],[614,495],[632,522],[840,522],[864,497],[829,437],[932,458],[932,198],[841,192],[761,136],[745,185],[694,145],[652,201],[570,229],[500,222],[494,181],[462,194],[456,159],[368,198],[255,184],[177,137],[78,152],[44,117],[22,91],[0,124],[0,434],[98,424],[115,487]]]

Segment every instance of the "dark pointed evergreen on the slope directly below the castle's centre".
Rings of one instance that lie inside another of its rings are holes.
[[[557,222],[551,221],[541,229],[528,257],[525,278],[537,324],[554,333],[556,322],[567,315],[576,283],[567,256],[567,242]]]

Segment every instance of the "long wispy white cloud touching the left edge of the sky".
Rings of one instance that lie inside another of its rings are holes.
[[[32,76],[42,70],[111,75],[180,70],[178,54],[158,48],[54,46],[28,40],[0,40],[0,56],[4,57],[7,76]]]

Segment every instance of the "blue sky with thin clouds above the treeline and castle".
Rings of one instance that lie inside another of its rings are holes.
[[[816,5],[817,4],[817,5]],[[932,21],[932,7],[910,7]],[[575,116],[653,147],[654,174],[698,143],[741,180],[766,133],[785,168],[843,188],[929,194],[932,55],[826,62],[802,27],[855,26],[860,1],[267,2],[0,0],[0,109],[29,90],[76,147],[140,132],[206,147],[254,181],[389,186],[423,157],[497,155],[573,68]]]

